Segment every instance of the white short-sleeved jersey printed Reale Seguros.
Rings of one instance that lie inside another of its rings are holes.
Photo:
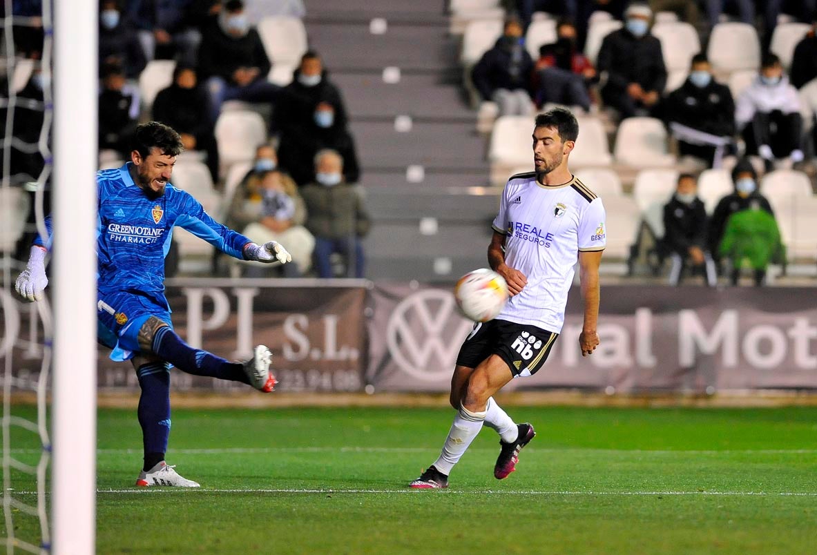
[[[505,235],[505,263],[528,278],[498,318],[561,332],[578,251],[603,251],[605,207],[575,177],[542,185],[536,174],[511,176],[493,229]]]

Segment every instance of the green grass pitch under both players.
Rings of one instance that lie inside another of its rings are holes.
[[[817,408],[508,412],[538,432],[516,473],[493,478],[484,428],[447,491],[410,491],[453,411],[176,410],[167,460],[203,487],[137,491],[135,411],[100,411],[97,553],[817,550]],[[16,458],[36,460],[32,439],[16,433]],[[33,518],[14,522],[36,541]]]

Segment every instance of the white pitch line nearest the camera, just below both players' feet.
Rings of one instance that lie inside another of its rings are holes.
[[[176,488],[176,487],[145,487],[145,488],[128,488],[122,490],[114,489],[100,489],[96,490],[98,494],[136,494],[136,495],[150,495],[150,494],[167,494],[167,493],[292,493],[292,494],[374,494],[374,495],[391,495],[391,494],[414,494],[422,495],[417,490],[408,488],[400,490],[324,490],[324,489],[208,489],[208,488]],[[523,491],[523,490],[477,490],[477,491],[441,491],[444,495],[627,495],[636,497],[648,497],[658,495],[720,495],[720,496],[753,496],[753,497],[775,497],[775,496],[791,496],[791,497],[817,497],[817,491]],[[36,495],[36,491],[16,491],[14,495]]]

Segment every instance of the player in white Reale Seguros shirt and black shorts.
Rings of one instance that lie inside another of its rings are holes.
[[[488,247],[489,264],[505,278],[511,299],[494,320],[475,324],[462,344],[451,379],[450,401],[458,413],[440,458],[411,482],[413,488],[448,487],[451,469],[483,424],[500,437],[494,477],[502,480],[516,469],[520,449],[536,433],[532,425],[511,420],[492,396],[512,379],[534,375],[547,359],[565,322],[577,260],[584,300],[582,356],[599,344],[605,208],[568,169],[577,137],[578,122],[565,109],[536,117],[535,171],[508,180]]]

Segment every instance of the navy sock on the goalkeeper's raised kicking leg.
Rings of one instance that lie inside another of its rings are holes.
[[[249,384],[244,367],[240,362],[228,362],[207,351],[193,349],[167,326],[160,327],[156,331],[153,351],[163,360],[188,374],[206,375],[211,378]]]

